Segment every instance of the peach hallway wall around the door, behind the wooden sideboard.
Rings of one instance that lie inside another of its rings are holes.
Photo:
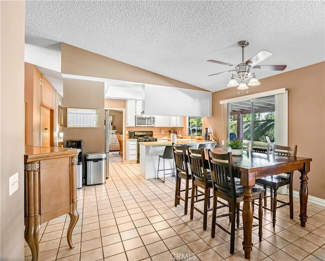
[[[43,79],[43,85],[40,84]],[[58,105],[62,97],[55,91],[50,82],[35,65],[25,63],[25,144],[40,146],[41,144],[41,107],[54,110],[54,144],[57,146]]]

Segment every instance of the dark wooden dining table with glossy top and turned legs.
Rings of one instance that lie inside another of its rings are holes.
[[[224,153],[222,149],[211,149],[215,153]],[[208,150],[205,150],[206,159],[208,159]],[[244,206],[243,206],[243,230],[244,241],[243,250],[245,258],[250,259],[252,251],[252,224],[253,224],[253,205],[252,205],[252,187],[255,180],[270,175],[276,175],[284,172],[298,170],[300,172],[300,223],[302,227],[306,226],[307,221],[307,173],[310,170],[311,158],[275,156],[258,152],[244,151],[242,156],[233,156],[233,166],[236,176],[240,178],[241,185],[244,186]]]

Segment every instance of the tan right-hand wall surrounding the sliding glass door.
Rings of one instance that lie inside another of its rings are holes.
[[[279,88],[288,90],[288,144],[297,144],[297,155],[312,158],[308,173],[309,194],[325,199],[325,62],[261,79],[261,85],[248,94]],[[237,88],[212,94],[212,117],[206,118],[219,141],[226,139],[226,110],[220,100],[245,96]],[[219,142],[221,144],[221,142]],[[219,145],[220,146],[220,145]],[[294,190],[299,191],[299,172],[294,175]]]

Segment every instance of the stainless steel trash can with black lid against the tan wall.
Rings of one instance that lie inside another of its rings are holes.
[[[106,182],[106,154],[92,153],[85,155],[86,185],[104,184]]]

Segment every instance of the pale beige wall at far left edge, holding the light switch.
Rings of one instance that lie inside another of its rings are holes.
[[[0,259],[24,260],[24,1],[0,1],[0,35]]]

